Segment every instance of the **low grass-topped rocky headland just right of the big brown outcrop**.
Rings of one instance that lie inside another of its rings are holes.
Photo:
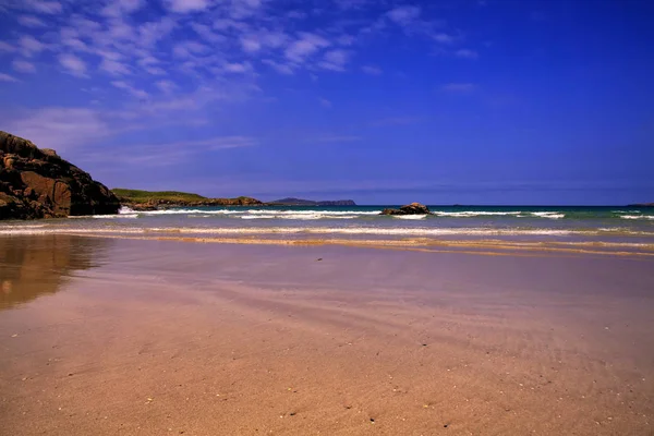
[[[169,207],[197,206],[263,206],[252,197],[208,198],[198,194],[178,191],[141,191],[114,187],[111,190],[120,204],[134,210],[156,210]]]

